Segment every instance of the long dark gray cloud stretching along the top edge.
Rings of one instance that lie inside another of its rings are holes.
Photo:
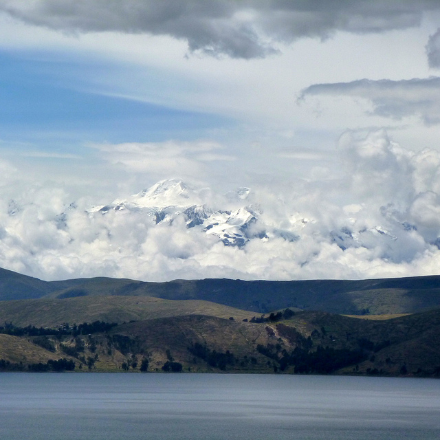
[[[165,34],[191,52],[258,58],[276,41],[326,39],[338,30],[385,32],[418,25],[432,0],[0,0],[0,11],[65,32]]]

